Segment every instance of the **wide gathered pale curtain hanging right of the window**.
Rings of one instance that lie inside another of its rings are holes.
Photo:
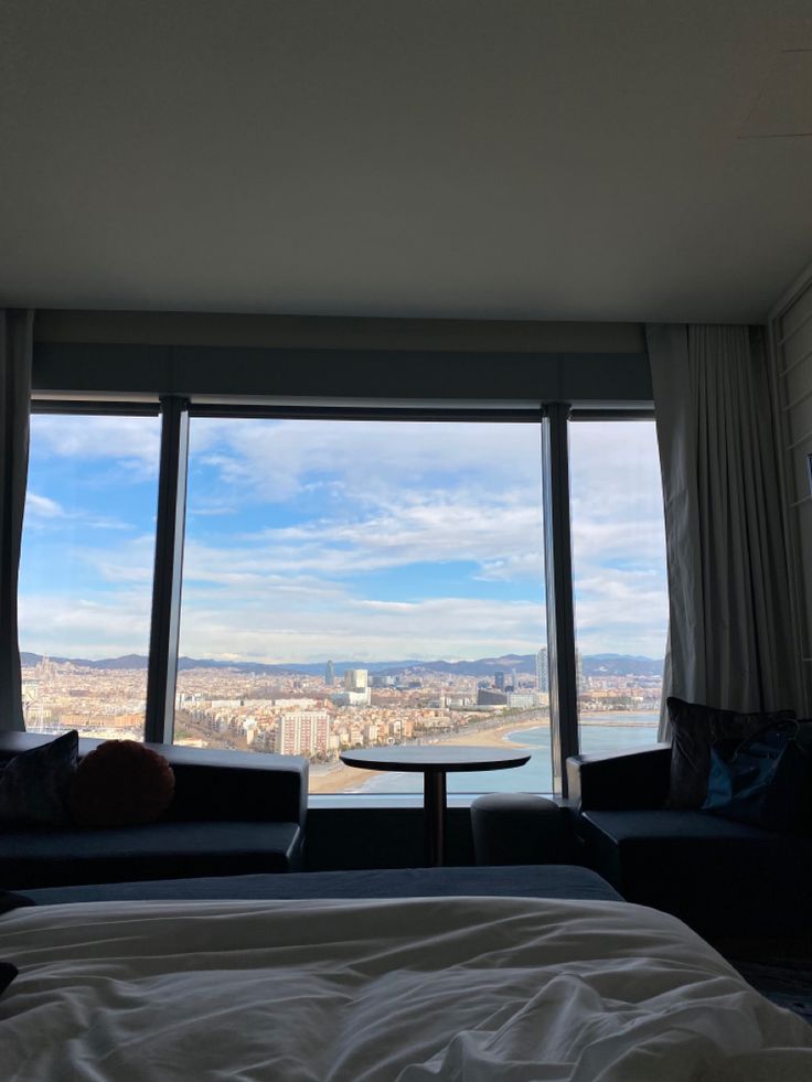
[[[760,329],[647,329],[665,500],[667,695],[800,708],[770,382]],[[661,739],[667,739],[665,710]]]

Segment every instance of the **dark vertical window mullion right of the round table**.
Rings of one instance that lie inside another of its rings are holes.
[[[542,424],[544,548],[553,789],[567,795],[564,765],[578,752],[573,548],[569,522],[569,406],[552,403]]]

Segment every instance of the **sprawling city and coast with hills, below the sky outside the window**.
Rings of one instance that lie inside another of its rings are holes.
[[[30,730],[74,728],[97,739],[143,739],[145,668],[87,667],[31,655],[23,661],[23,711]],[[338,684],[329,683],[329,675],[327,666],[316,674],[183,669],[172,740],[224,751],[303,754],[311,761],[311,792],[339,792],[360,783],[340,762],[345,748],[415,740],[502,742],[509,733],[532,729],[541,746],[530,769],[549,771],[549,697],[537,671],[492,666],[483,677],[419,666],[397,675],[348,668]],[[631,676],[596,668],[585,675],[578,706],[587,744],[599,739],[603,747],[615,747],[650,732],[660,695],[659,673]],[[598,729],[601,736],[596,738]],[[545,784],[534,778],[534,784]]]

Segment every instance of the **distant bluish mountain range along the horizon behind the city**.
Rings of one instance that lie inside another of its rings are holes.
[[[20,654],[23,665],[36,665],[42,661],[42,654],[31,654],[23,651]],[[122,657],[104,657],[89,661],[85,657],[50,657],[53,662],[70,662],[83,668],[146,668],[147,657],[143,654],[125,654]],[[241,673],[257,673],[267,676],[282,676],[301,673],[308,676],[319,676],[324,672],[325,662],[310,664],[267,665],[263,662],[224,662],[211,658],[179,657],[180,669],[190,668],[233,668]],[[640,657],[633,654],[585,654],[581,658],[585,676],[662,676],[663,663],[653,657]],[[504,654],[502,657],[480,657],[477,661],[444,662],[444,661],[393,661],[365,662],[340,661],[333,662],[335,675],[341,676],[348,668],[365,668],[370,673],[382,676],[394,676],[404,669],[421,669],[428,673],[455,673],[459,676],[493,676],[496,671],[511,673],[531,673],[536,671],[535,654]]]

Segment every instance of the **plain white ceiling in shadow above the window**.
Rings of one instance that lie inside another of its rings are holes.
[[[799,50],[811,0],[0,0],[0,303],[758,320]]]

